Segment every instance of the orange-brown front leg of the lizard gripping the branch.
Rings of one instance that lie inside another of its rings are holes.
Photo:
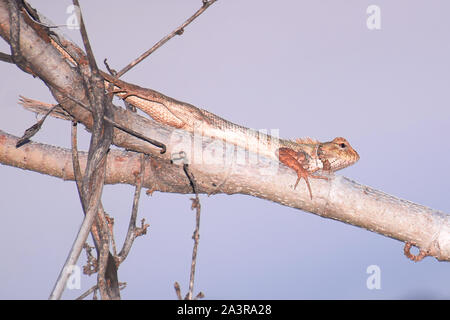
[[[297,187],[302,178],[305,179],[306,186],[308,187],[309,195],[312,200],[311,185],[309,184],[308,177],[325,180],[328,180],[328,178],[324,176],[313,175],[305,169],[307,158],[306,154],[302,151],[294,151],[290,148],[279,148],[277,150],[277,154],[278,159],[282,164],[297,172],[297,181],[295,182],[294,189]]]

